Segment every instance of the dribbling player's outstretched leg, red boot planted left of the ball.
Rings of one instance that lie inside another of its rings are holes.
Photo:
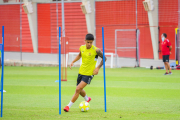
[[[77,100],[77,98],[79,97],[79,94],[81,92],[81,90],[87,85],[86,82],[81,81],[78,86],[76,87],[75,93],[71,99],[71,101],[69,102],[69,104],[64,108],[65,112],[69,111],[69,108],[74,104],[74,102]]]

